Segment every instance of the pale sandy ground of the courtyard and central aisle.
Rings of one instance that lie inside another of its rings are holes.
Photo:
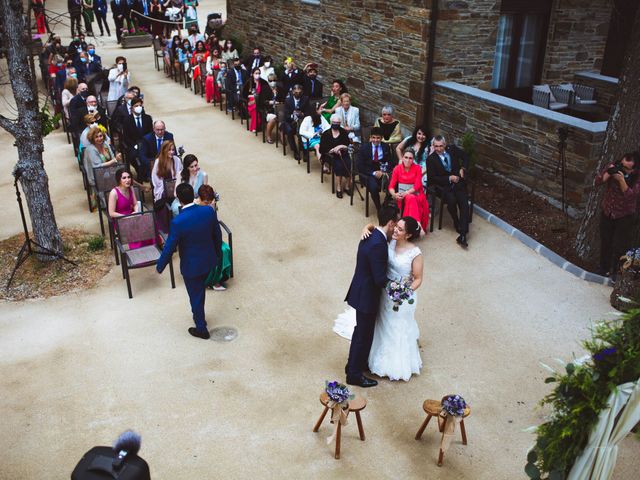
[[[223,3],[205,0],[200,11]],[[47,5],[64,8],[61,0]],[[331,196],[317,165],[307,175],[165,79],[150,49],[122,52],[113,38],[98,49],[105,64],[128,57],[148,113],[200,158],[222,195],[236,278],[228,291],[209,292],[207,315],[210,328],[231,325],[239,337],[228,344],[190,337],[182,279],[171,290],[167,274],[151,269],[132,273],[133,300],[114,268],[92,290],[2,304],[0,479],[65,478],[84,451],[125,428],[142,433],[141,453],[157,479],[522,478],[533,442],[522,429],[542,420],[534,408],[548,391],[538,362],[579,353],[576,341],[610,310],[608,289],[557,269],[480,219],[466,252],[449,227],[422,240],[423,374],[358,392],[369,400],[367,440],[357,441],[349,425],[335,461],[328,430],[311,428],[324,381],[343,378],[348,343],[331,327],[344,308],[362,203]],[[0,141],[11,142],[4,132]],[[58,222],[98,232],[71,153],[62,133],[47,138]],[[8,175],[14,162],[14,150],[0,159],[2,238],[20,231]],[[469,445],[454,443],[438,469],[433,426],[421,442],[413,436],[422,400],[450,392],[473,406]],[[621,468],[632,472],[637,462],[623,458]]]

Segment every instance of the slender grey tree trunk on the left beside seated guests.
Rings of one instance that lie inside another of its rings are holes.
[[[15,138],[18,163],[14,175],[27,201],[31,228],[37,243],[62,254],[62,237],[49,195],[49,180],[42,162],[42,119],[38,108],[38,92],[29,68],[31,33],[25,25],[22,0],[0,0],[3,19],[2,45],[5,47],[11,89],[18,111],[17,120],[0,115],[0,127]],[[17,210],[17,209],[16,209]],[[42,257],[49,260],[51,257]]]

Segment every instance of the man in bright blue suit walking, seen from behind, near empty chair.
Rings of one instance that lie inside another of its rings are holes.
[[[222,255],[220,224],[213,208],[193,203],[193,187],[188,183],[178,185],[176,195],[182,212],[171,222],[169,238],[158,259],[156,270],[162,273],[178,248],[180,273],[187,287],[193,321],[196,324],[189,328],[189,333],[206,340],[210,335],[204,319],[205,281]]]

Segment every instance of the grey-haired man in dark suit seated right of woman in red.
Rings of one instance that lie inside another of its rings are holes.
[[[429,186],[434,187],[447,204],[453,225],[459,233],[456,242],[466,248],[469,246],[469,196],[465,171],[469,161],[461,149],[455,145],[447,146],[442,135],[433,137],[431,146],[434,152],[427,157]]]

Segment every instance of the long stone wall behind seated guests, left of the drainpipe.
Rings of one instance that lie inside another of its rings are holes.
[[[260,45],[281,62],[318,63],[325,95],[343,79],[364,110],[384,104],[413,126],[422,119],[430,18],[424,0],[234,0],[225,35]],[[363,112],[365,113],[365,112]]]

